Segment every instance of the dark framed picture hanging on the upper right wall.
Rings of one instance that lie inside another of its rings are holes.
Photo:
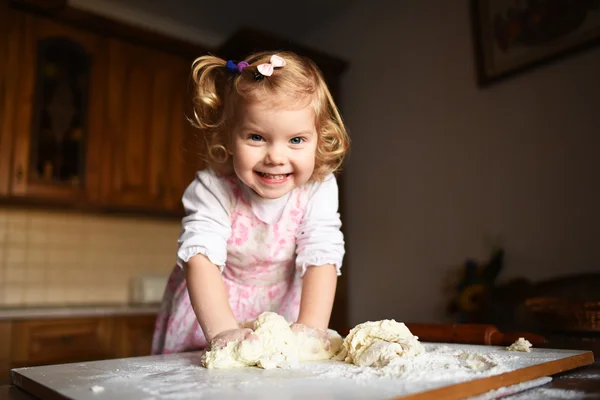
[[[600,0],[471,0],[479,84],[600,43]]]

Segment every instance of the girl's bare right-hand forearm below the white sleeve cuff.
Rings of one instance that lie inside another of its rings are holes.
[[[327,264],[309,267],[302,282],[300,315],[297,323],[317,329],[327,329],[337,285],[337,270]]]

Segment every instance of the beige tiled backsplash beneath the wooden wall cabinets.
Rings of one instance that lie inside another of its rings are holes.
[[[126,303],[130,281],[168,275],[178,220],[0,208],[0,306]]]

